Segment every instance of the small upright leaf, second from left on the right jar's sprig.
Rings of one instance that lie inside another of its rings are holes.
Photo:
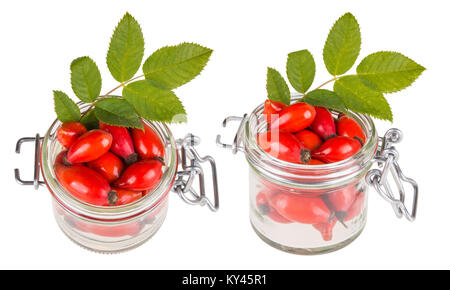
[[[292,87],[304,94],[311,87],[316,74],[316,64],[311,53],[300,50],[288,54],[286,72]]]

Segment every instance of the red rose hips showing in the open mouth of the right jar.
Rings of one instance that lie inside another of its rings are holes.
[[[335,120],[326,108],[306,103],[285,105],[266,100],[268,131],[258,134],[259,146],[292,163],[320,165],[349,158],[366,140],[361,126],[345,114]]]

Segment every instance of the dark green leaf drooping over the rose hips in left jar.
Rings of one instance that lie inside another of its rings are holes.
[[[106,98],[95,105],[95,116],[103,123],[143,129],[136,112],[127,101],[119,98]]]

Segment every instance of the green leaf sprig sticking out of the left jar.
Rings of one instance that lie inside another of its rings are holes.
[[[139,117],[167,123],[186,122],[183,104],[172,90],[198,76],[212,50],[186,42],[160,48],[144,62],[143,73],[135,76],[142,64],[144,46],[139,23],[126,13],[114,30],[106,57],[108,69],[119,84],[100,95],[102,78],[96,63],[87,56],[75,59],[70,65],[72,90],[79,100],[91,105],[81,114],[67,94],[53,91],[58,119],[79,121],[88,128],[97,126],[98,120],[143,128]],[[111,97],[120,88],[123,97]]]

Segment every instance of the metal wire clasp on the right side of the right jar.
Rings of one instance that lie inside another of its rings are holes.
[[[403,134],[399,129],[389,129],[383,138],[379,139],[381,142],[374,161],[378,163],[380,169],[372,169],[367,172],[366,182],[372,185],[378,194],[388,201],[398,218],[403,216],[409,221],[414,221],[417,211],[417,199],[419,195],[419,187],[417,182],[406,177],[400,166],[398,165],[399,153],[393,144],[399,143],[402,140]],[[391,174],[394,180],[399,198],[396,198],[391,184],[388,181],[388,175]],[[405,188],[404,184],[409,183],[413,188],[412,211],[408,211],[405,205]]]

